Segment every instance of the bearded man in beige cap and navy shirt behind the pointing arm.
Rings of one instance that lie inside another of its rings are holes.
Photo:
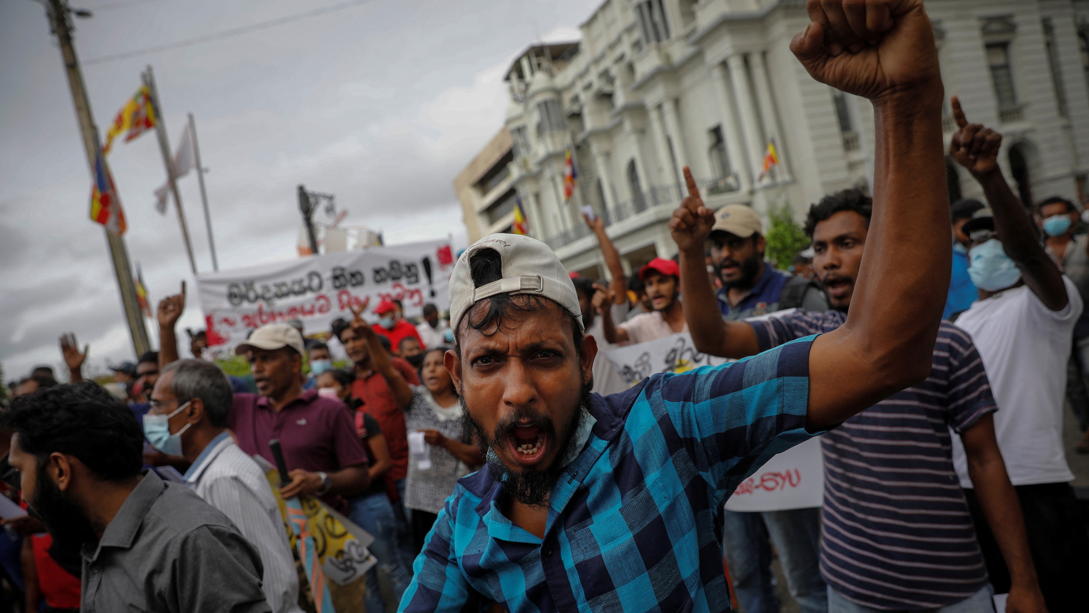
[[[776,270],[763,260],[762,224],[751,207],[726,205],[719,209],[709,238],[711,265],[722,281],[717,297],[723,319],[795,307],[828,309],[819,285]]]

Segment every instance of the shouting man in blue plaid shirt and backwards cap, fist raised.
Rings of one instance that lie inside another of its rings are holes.
[[[809,7],[795,54],[874,107],[879,247],[847,322],[602,397],[555,255],[521,235],[478,241],[451,275],[445,365],[488,468],[446,500],[401,611],[730,611],[714,529],[725,496],[928,377],[951,268],[933,30],[918,1],[852,3],[849,23],[840,1]],[[714,223],[706,207],[689,213]]]

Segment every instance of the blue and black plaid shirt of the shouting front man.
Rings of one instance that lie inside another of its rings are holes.
[[[480,470],[446,500],[401,611],[730,611],[715,518],[805,429],[809,347],[658,373],[610,396],[549,496],[544,539],[503,516]]]

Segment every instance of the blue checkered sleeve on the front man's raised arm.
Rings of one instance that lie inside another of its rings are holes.
[[[645,420],[643,433],[661,437],[663,444],[680,441],[717,498],[725,496],[771,456],[815,436],[805,428],[813,339],[732,364],[651,378],[644,393],[653,424]],[[628,419],[629,430],[638,428],[637,421]],[[640,432],[632,436],[638,440]]]

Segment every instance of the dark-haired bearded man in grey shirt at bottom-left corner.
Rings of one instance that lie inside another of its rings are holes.
[[[270,611],[257,550],[188,488],[140,474],[144,433],[105,389],[21,396],[0,427],[29,511],[81,551],[83,611]]]

